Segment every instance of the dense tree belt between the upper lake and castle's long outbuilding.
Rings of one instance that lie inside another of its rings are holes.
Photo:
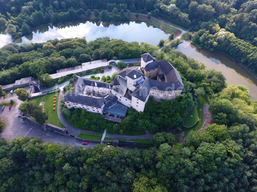
[[[98,59],[140,58],[156,47],[109,37],[87,42],[84,38],[54,39],[42,43],[9,44],[0,49],[0,82],[10,84],[23,77],[37,77]]]

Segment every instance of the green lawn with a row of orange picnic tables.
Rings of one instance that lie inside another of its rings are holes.
[[[40,102],[44,102],[44,110],[48,114],[48,120],[46,122],[64,128],[65,126],[59,120],[59,117],[57,114],[59,94],[60,92],[50,93],[47,95],[30,99],[29,102],[35,101],[37,105],[39,105]],[[56,95],[55,111],[53,111],[53,95]]]

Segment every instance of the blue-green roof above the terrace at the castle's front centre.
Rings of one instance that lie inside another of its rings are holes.
[[[127,107],[125,107],[124,105],[122,105],[120,103],[108,101],[104,105],[103,112],[121,116],[121,117],[125,117],[126,113],[127,113],[127,109],[128,109]]]

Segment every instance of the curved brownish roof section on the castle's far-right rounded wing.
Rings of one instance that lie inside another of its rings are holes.
[[[158,65],[167,82],[179,81],[183,85],[178,71],[166,59],[158,61]]]

